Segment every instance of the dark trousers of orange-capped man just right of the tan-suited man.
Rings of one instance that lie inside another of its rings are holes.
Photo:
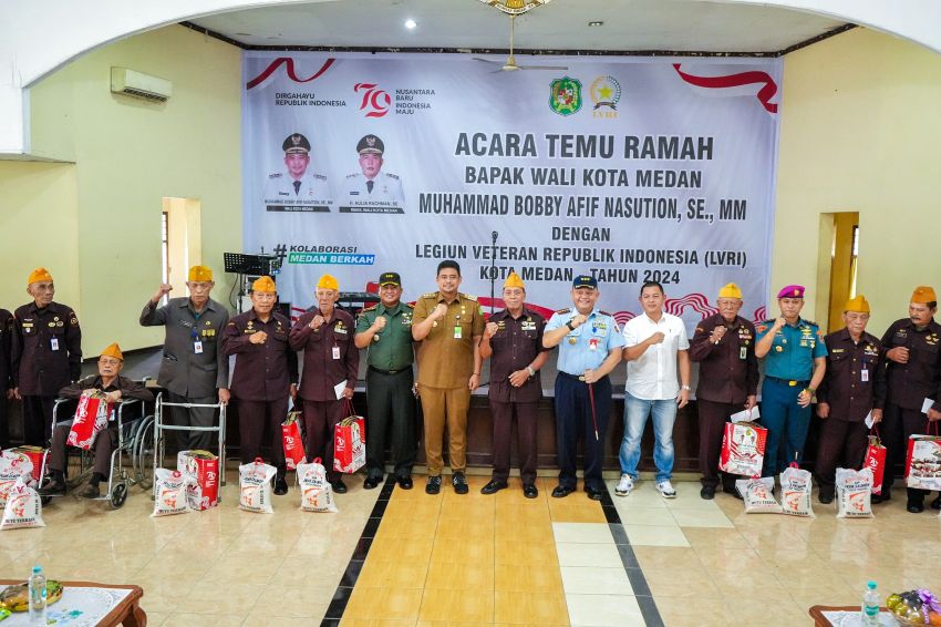
[[[523,483],[536,482],[536,421],[538,401],[501,403],[490,401],[494,418],[494,476],[506,481],[509,476],[509,456],[513,448],[513,414],[516,413],[516,438],[519,451],[519,477]],[[594,438],[594,431],[591,438]]]

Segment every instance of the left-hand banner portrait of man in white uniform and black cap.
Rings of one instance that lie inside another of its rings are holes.
[[[300,133],[291,133],[281,144],[285,172],[268,175],[265,207],[269,212],[329,212],[333,205],[327,176],[308,172],[310,142]]]

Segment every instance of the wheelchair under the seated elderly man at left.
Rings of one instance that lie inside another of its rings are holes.
[[[147,414],[146,403],[137,399],[122,399],[112,410],[108,425],[112,428],[112,419],[115,421],[117,443],[111,453],[111,466],[107,476],[107,490],[104,495],[92,498],[92,501],[107,501],[115,510],[122,507],[127,500],[127,492],[132,485],[139,485],[143,490],[149,490],[153,484],[154,453],[154,415]],[[56,399],[52,409],[52,430],[59,424],[69,424],[75,415],[77,401],[74,399]],[[102,432],[104,433],[104,431]],[[102,433],[99,436],[102,436]],[[66,486],[73,489],[91,476],[94,465],[94,452],[83,449],[66,446],[66,465],[73,466],[69,461],[69,452],[77,451],[77,474],[66,480]],[[51,445],[42,455],[42,465],[39,476],[42,482],[46,481],[48,458]],[[126,459],[126,460],[125,460]],[[130,469],[126,461],[131,462]],[[41,501],[48,505],[55,495],[43,495]]]

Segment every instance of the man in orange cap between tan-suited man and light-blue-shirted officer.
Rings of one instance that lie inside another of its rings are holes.
[[[513,415],[519,450],[523,494],[536,498],[536,424],[542,383],[539,370],[549,358],[542,347],[546,320],[526,308],[526,285],[510,273],[504,281],[506,309],[490,316],[480,340],[480,357],[490,360],[490,414],[494,419],[494,474],[480,489],[494,494],[507,487],[513,442]]]

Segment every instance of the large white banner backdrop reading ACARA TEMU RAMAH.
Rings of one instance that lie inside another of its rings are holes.
[[[689,325],[728,281],[762,317],[780,60],[519,62],[568,70],[244,53],[245,251],[283,256],[282,300],[303,310],[324,273],[369,291],[383,271],[413,300],[455,259],[485,307],[493,264],[497,297],[516,270],[537,309],[570,305],[589,273],[621,322],[644,280]]]

